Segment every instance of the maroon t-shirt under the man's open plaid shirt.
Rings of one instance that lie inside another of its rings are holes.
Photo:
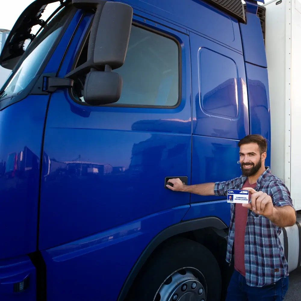
[[[249,179],[244,183],[243,188],[255,188],[256,183],[250,185]],[[249,194],[250,201],[251,194]],[[235,230],[234,230],[234,268],[241,275],[246,277],[246,268],[244,263],[244,238],[247,226],[248,208],[241,204],[235,204]]]

